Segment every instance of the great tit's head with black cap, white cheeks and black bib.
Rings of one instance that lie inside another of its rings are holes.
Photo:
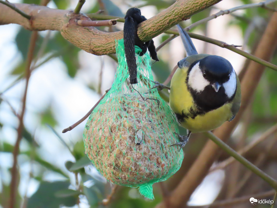
[[[197,106],[204,112],[230,102],[237,85],[231,63],[219,56],[207,56],[192,63],[186,83]]]

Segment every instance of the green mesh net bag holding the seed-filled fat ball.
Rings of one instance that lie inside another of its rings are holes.
[[[136,47],[136,53],[141,49]],[[179,170],[183,151],[176,118],[158,94],[147,52],[137,56],[137,84],[128,84],[123,39],[116,42],[118,66],[110,91],[93,110],[83,133],[86,154],[110,182],[139,187],[153,199],[152,185]]]

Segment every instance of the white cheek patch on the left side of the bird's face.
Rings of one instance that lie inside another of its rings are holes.
[[[202,92],[210,82],[203,77],[201,69],[199,68],[199,62],[195,64],[188,75],[188,85],[197,92]]]

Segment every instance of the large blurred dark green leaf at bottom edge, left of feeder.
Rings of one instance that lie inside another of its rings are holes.
[[[77,195],[56,196],[57,192],[67,189],[69,185],[69,181],[41,182],[38,190],[28,200],[27,208],[74,206],[78,200]]]

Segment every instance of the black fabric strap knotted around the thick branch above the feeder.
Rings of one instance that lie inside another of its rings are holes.
[[[124,39],[124,48],[126,62],[130,74],[130,84],[137,83],[137,64],[135,56],[135,45],[141,48],[140,56],[146,53],[147,48],[149,50],[150,56],[153,60],[159,61],[154,41],[143,42],[137,36],[137,25],[146,20],[144,16],[141,15],[141,12],[138,8],[128,9],[125,16],[125,23],[123,29],[123,39]]]

